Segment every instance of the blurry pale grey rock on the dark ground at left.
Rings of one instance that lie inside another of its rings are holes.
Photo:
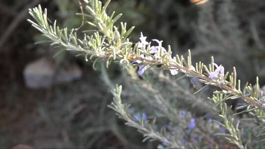
[[[79,79],[82,75],[82,71],[77,64],[59,68],[56,74],[55,72],[55,64],[53,62],[47,58],[40,58],[29,63],[23,74],[27,87],[33,89],[48,88],[54,83],[71,82],[72,80]]]

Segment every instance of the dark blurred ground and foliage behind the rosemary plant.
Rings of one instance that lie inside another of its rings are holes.
[[[149,41],[171,45],[175,54],[191,49],[193,62],[209,63],[213,55],[229,72],[236,66],[242,84],[255,84],[258,75],[262,89],[265,0],[193,1],[112,0],[108,10],[123,13],[120,21],[136,26],[132,41],[142,31]],[[107,107],[112,95],[106,76],[113,84],[124,84],[125,102],[138,110],[144,105],[118,65],[94,71],[83,57],[62,52],[53,58],[49,44],[34,44],[45,40],[26,21],[28,8],[38,4],[62,27],[79,27],[82,21],[75,15],[78,0],[0,0],[0,148],[156,147],[157,142],[142,143],[142,135]]]

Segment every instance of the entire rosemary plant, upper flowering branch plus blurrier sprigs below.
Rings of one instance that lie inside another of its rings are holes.
[[[34,20],[27,21],[49,39],[39,43],[51,42],[51,46],[61,49],[55,56],[64,50],[74,51],[78,53],[77,56],[84,56],[86,61],[93,61],[93,68],[95,68],[95,64],[99,60],[102,60],[106,63],[106,67],[114,62],[120,64],[120,66],[127,71],[132,67],[138,68],[138,75],[143,75],[146,71],[154,71],[153,68],[167,70],[171,75],[182,73],[183,76],[180,78],[195,78],[204,84],[204,87],[199,89],[196,93],[202,91],[207,86],[219,88],[213,92],[214,95],[210,99],[216,105],[213,109],[217,111],[221,118],[219,120],[221,120],[222,123],[219,122],[219,124],[228,130],[226,132],[228,134],[217,133],[217,135],[224,136],[238,148],[247,147],[247,145],[244,145],[241,141],[241,131],[243,130],[239,130],[240,121],[237,120],[237,123],[234,124],[234,116],[231,115],[225,103],[228,99],[238,98],[243,99],[245,103],[237,109],[243,109],[240,113],[245,112],[253,115],[254,120],[259,124],[259,135],[262,136],[265,134],[265,98],[261,98],[263,93],[258,92],[258,85],[253,88],[252,84],[248,82],[242,87],[240,80],[237,79],[235,67],[232,73],[225,72],[222,65],[214,63],[213,57],[211,58],[210,64],[204,64],[202,62],[192,63],[190,50],[187,51],[188,56],[186,58],[183,55],[172,55],[170,46],[164,48],[162,46],[163,41],[157,39],[152,40],[157,43],[153,45],[153,43],[147,41],[147,37],[145,37],[143,33],[141,33],[139,37],[140,41],[133,43],[129,38],[134,26],[127,29],[127,24],[121,22],[118,27],[116,23],[122,14],[115,16],[115,12],[112,12],[110,15],[107,15],[106,8],[110,0],[107,0],[104,5],[99,0],[83,1],[86,3],[85,10],[88,14],[82,12],[78,15],[87,18],[85,24],[95,28],[94,30],[84,30],[83,38],[79,38],[77,35],[77,30],[79,28],[70,30],[68,28],[60,28],[56,25],[56,21],[50,24],[47,18],[47,9],[43,11],[40,5],[36,8],[29,9],[29,14]],[[156,72],[154,74],[156,74]],[[159,77],[162,78],[161,76]],[[256,84],[259,84],[258,77],[256,79]],[[183,141],[180,141],[185,139],[185,136],[181,138],[175,137],[167,132],[166,129],[162,129],[162,131],[159,132],[158,129],[153,127],[156,119],[151,122],[152,124],[149,124],[149,120],[147,120],[146,116],[140,114],[134,117],[136,120],[133,120],[133,116],[128,113],[129,105],[123,104],[121,101],[121,89],[121,86],[117,86],[113,91],[114,100],[109,107],[115,110],[121,119],[127,121],[127,125],[137,128],[144,135],[144,141],[148,139],[151,141],[161,141],[162,145],[160,145],[159,148],[196,148],[191,144],[185,144]],[[159,91],[153,90],[153,92]],[[187,94],[185,90],[183,93]],[[193,96],[194,95],[191,94],[191,97]],[[157,96],[157,98],[161,100],[161,97]],[[196,98],[194,98],[194,100],[195,99]],[[159,104],[159,102],[157,104]],[[207,105],[205,107],[209,108]],[[165,108],[169,108],[169,112],[174,111],[170,110],[171,107],[169,105],[165,105]],[[177,113],[173,113],[173,115],[175,114]],[[239,113],[235,115],[237,114]],[[174,120],[174,118],[171,120]],[[190,119],[189,122],[180,122],[186,123],[191,130],[196,126],[196,119]],[[202,129],[194,130],[204,134]]]

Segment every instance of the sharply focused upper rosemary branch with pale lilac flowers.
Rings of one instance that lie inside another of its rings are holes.
[[[102,59],[106,61],[106,66],[111,62],[120,63],[123,67],[139,66],[138,72],[141,74],[147,70],[147,66],[154,67],[158,65],[164,70],[174,71],[171,73],[172,75],[182,72],[186,77],[199,78],[199,81],[205,85],[219,87],[220,91],[215,91],[215,93],[228,95],[229,97],[226,99],[244,99],[247,110],[255,111],[259,120],[262,123],[265,122],[263,117],[264,105],[258,99],[260,97],[258,93],[258,77],[256,79],[257,85],[255,89],[253,89],[251,84],[246,83],[241,90],[240,80],[237,79],[236,68],[233,68],[233,72],[230,75],[228,72],[224,73],[224,68],[221,65],[216,66],[213,57],[209,65],[205,65],[202,62],[192,65],[190,50],[188,50],[186,59],[182,55],[172,57],[170,46],[165,50],[162,47],[162,41],[158,40],[153,41],[158,42],[159,46],[151,46],[151,42],[146,42],[147,37],[143,35],[140,37],[141,42],[133,44],[128,37],[134,26],[127,30],[126,23],[121,23],[120,29],[118,29],[115,23],[121,17],[121,14],[116,17],[114,17],[115,12],[110,16],[106,14],[106,7],[110,0],[107,0],[104,6],[102,6],[99,0],[84,1],[87,4],[86,10],[89,14],[80,15],[92,18],[92,21],[86,21],[86,24],[97,28],[91,36],[87,36],[84,33],[83,39],[79,39],[75,29],[72,29],[70,32],[67,28],[61,29],[56,25],[56,21],[54,21],[53,25],[49,25],[47,9],[44,9],[43,12],[40,5],[39,7],[29,9],[29,14],[35,22],[31,20],[28,20],[28,22],[50,39],[47,42],[52,42],[51,46],[79,52],[78,55],[84,55],[86,61],[89,56],[90,60],[94,60],[93,66],[95,66],[95,63],[99,59]],[[132,63],[134,64],[132,65]],[[248,92],[247,95],[246,91]],[[124,116],[126,117],[126,115]],[[130,117],[126,118],[126,120],[131,123]],[[146,130],[143,129],[143,131]],[[157,138],[160,139],[159,136]]]

